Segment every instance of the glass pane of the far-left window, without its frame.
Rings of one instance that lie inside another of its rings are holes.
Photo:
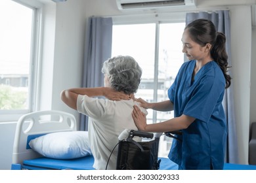
[[[30,56],[32,8],[14,1],[0,1],[0,109],[30,107]]]

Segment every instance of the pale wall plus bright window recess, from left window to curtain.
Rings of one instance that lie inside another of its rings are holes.
[[[56,3],[45,23],[42,82],[39,110],[64,110],[79,114],[66,107],[60,92],[81,87],[83,44],[85,42],[85,3],[83,0]]]

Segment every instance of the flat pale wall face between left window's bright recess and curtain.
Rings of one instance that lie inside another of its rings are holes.
[[[58,3],[56,7],[52,108],[68,110],[76,117],[77,112],[70,110],[60,101],[60,92],[68,88],[81,87],[85,42],[85,2],[83,0],[67,1]]]

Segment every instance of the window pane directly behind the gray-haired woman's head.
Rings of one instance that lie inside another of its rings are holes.
[[[129,55],[142,68],[142,80],[136,97],[152,102],[154,95],[154,57],[156,24],[114,25],[112,56]],[[148,110],[148,122],[152,122],[152,110]]]

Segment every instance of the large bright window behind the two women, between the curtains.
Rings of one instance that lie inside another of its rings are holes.
[[[148,102],[168,99],[167,90],[184,62],[181,42],[184,26],[184,22],[113,26],[112,56],[132,56],[142,67],[142,80],[135,97]],[[148,110],[148,123],[171,118],[173,112]],[[163,137],[160,141],[161,157],[167,156],[170,146],[171,139]]]

